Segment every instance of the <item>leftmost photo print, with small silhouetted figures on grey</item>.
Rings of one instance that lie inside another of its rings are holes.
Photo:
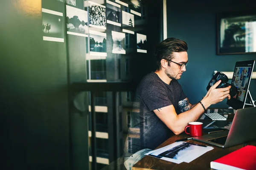
[[[63,14],[42,8],[43,40],[64,42]]]

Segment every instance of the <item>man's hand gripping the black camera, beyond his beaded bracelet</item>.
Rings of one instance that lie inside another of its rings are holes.
[[[209,102],[209,105],[216,104],[218,102],[223,101],[225,98],[230,99],[230,88],[231,86],[228,86],[226,88],[216,88],[221,83],[221,80],[216,82],[207,92],[205,98],[207,98],[207,101]]]

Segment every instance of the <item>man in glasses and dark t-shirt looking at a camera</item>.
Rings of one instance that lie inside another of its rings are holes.
[[[199,103],[191,105],[177,82],[188,63],[186,42],[167,38],[157,45],[157,70],[143,77],[137,87],[131,123],[125,141],[125,167],[131,167],[172,135],[184,131],[215,103],[230,99],[230,88],[213,85]]]

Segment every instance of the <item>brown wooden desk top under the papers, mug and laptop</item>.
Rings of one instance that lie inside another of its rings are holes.
[[[161,144],[158,148],[164,147],[166,145],[172,144],[177,139],[183,139],[189,137],[186,133],[181,133],[180,135],[175,135],[166,140],[163,144]],[[185,141],[195,144],[204,144],[207,146],[214,147],[213,150],[210,150],[209,152],[205,153],[204,155],[198,157],[197,159],[191,161],[190,163],[182,162],[180,164],[175,164],[173,162],[157,159],[151,156],[145,156],[143,159],[137,162],[132,168],[132,170],[147,170],[147,169],[153,169],[153,170],[211,170],[210,168],[210,162],[214,161],[215,159],[218,159],[224,155],[227,155],[228,153],[231,153],[237,149],[240,149],[241,147],[244,147],[245,145],[254,145],[256,146],[256,141],[253,142],[247,142],[246,144],[239,144],[235,145],[233,147],[227,147],[227,148],[221,148],[217,147],[211,144],[198,142],[193,139]]]

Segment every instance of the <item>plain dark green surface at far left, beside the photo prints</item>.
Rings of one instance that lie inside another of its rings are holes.
[[[68,170],[66,44],[43,41],[41,0],[1,1],[0,16],[0,169]]]

